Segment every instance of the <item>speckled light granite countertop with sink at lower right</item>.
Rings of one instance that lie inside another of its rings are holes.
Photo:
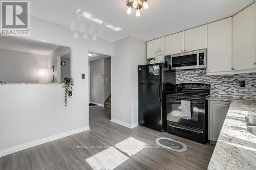
[[[256,101],[230,101],[208,169],[256,169],[256,136],[247,131],[245,123],[245,115],[256,115]]]

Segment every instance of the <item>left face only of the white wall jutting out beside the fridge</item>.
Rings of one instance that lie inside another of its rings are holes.
[[[111,58],[111,119],[131,124],[131,37],[114,42]]]

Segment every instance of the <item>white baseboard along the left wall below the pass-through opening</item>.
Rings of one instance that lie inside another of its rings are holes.
[[[35,146],[40,145],[40,144],[44,144],[44,143],[47,143],[47,142],[50,142],[50,141],[53,141],[53,140],[56,140],[56,139],[60,139],[60,138],[63,138],[63,137],[74,135],[74,134],[77,134],[77,133],[80,133],[80,132],[83,132],[83,131],[87,131],[87,130],[90,130],[89,125],[86,126],[86,127],[82,127],[82,128],[74,129],[74,130],[71,130],[71,131],[59,133],[57,135],[52,135],[52,136],[45,137],[45,138],[42,138],[42,139],[38,139],[38,140],[34,140],[34,141],[27,142],[27,143],[24,143],[24,144],[20,144],[20,145],[17,145],[15,147],[7,148],[7,149],[4,149],[4,150],[0,151],[0,157],[5,156],[5,155],[9,155],[9,154],[12,154],[12,153],[15,153],[15,152],[19,152],[19,151],[22,151],[22,150],[26,150],[28,148],[32,148],[32,147],[35,147]]]

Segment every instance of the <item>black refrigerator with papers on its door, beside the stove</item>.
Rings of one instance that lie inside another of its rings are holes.
[[[139,124],[166,131],[166,95],[175,89],[175,71],[165,63],[139,65]]]

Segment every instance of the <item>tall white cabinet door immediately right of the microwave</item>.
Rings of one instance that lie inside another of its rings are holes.
[[[207,73],[231,71],[232,17],[208,24]]]

